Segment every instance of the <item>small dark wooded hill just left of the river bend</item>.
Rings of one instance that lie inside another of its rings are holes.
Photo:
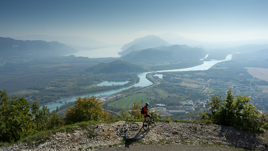
[[[96,64],[93,67],[88,68],[85,72],[90,72],[90,73],[117,73],[117,72],[143,72],[144,69],[140,66],[137,66],[135,64],[126,62],[126,61],[121,61],[121,60],[116,60],[110,63],[99,63]]]

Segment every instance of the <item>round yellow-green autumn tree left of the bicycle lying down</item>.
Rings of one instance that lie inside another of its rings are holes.
[[[88,95],[84,98],[77,97],[74,101],[74,107],[69,107],[66,110],[64,119],[66,124],[71,124],[81,121],[107,120],[109,117],[109,113],[102,107],[102,101],[94,95]]]

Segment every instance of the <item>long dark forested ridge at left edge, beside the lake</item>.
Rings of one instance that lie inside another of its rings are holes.
[[[1,56],[58,56],[77,52],[58,41],[46,42],[42,40],[15,40],[0,37]]]

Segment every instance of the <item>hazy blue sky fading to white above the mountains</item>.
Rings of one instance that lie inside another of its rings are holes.
[[[0,36],[88,36],[125,44],[163,33],[211,42],[268,39],[268,0],[0,1]]]

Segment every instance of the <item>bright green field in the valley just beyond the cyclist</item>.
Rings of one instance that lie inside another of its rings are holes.
[[[128,97],[123,97],[120,100],[113,101],[109,103],[109,106],[118,107],[122,109],[129,109],[130,106],[133,104],[133,102],[138,102],[138,101],[140,103],[142,102],[141,106],[144,106],[146,102],[150,103],[150,101],[147,100],[147,98],[149,97],[144,93],[134,94]]]

